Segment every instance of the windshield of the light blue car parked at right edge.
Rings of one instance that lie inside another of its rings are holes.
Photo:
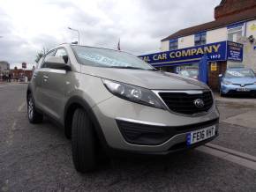
[[[255,78],[255,74],[249,69],[227,70],[225,78]]]

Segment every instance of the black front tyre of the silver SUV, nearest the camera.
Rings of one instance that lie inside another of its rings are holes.
[[[78,108],[72,119],[72,159],[78,172],[94,171],[97,164],[95,141],[92,121],[84,109]]]

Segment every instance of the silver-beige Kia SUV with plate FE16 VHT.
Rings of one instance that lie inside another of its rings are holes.
[[[29,122],[47,115],[64,127],[82,173],[94,170],[100,151],[169,154],[218,136],[219,112],[207,85],[122,51],[53,48],[34,70],[26,95]]]

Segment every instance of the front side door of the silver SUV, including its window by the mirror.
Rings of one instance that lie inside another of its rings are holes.
[[[64,48],[57,48],[55,56],[64,58],[65,63],[70,64],[67,52]],[[66,70],[56,70],[50,67],[44,71],[44,105],[47,112],[56,120],[61,118],[64,110],[64,91],[66,88]]]

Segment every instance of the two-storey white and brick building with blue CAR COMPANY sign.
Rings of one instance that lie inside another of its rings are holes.
[[[207,83],[218,88],[218,75],[226,68],[245,66],[256,71],[256,1],[222,0],[215,20],[181,29],[161,41],[160,53],[140,55],[154,67],[179,72],[199,69],[207,55]]]

